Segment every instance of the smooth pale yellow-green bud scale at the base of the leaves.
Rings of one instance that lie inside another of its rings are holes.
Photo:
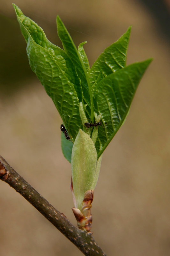
[[[99,169],[96,171],[97,152],[92,139],[81,129],[75,139],[72,157],[72,182],[76,200],[76,208],[82,209],[82,201],[87,190],[93,190],[98,179]],[[100,163],[98,164],[100,166]],[[96,171],[96,175],[95,175]]]

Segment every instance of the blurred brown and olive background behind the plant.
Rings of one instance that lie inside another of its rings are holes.
[[[137,0],[15,1],[61,46],[59,14],[77,46],[87,41],[90,65],[130,25],[127,64],[154,58],[125,124],[103,155],[92,231],[108,256],[170,254],[170,8],[168,0],[147,2],[151,6]],[[0,3],[0,154],[76,225],[71,166],[60,146],[61,118],[30,70],[11,1]],[[0,256],[83,255],[4,182],[0,237]]]

